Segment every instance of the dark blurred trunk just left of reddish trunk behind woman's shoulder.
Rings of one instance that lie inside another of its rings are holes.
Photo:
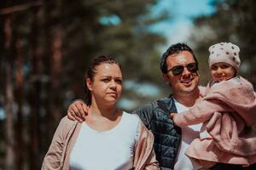
[[[40,30],[40,10],[33,8],[33,20],[31,31],[31,44],[32,44],[32,89],[30,94],[31,105],[31,144],[30,144],[30,169],[40,169],[40,155],[39,155],[39,113],[40,113],[40,96],[41,96],[41,53],[42,49],[39,46],[39,30]]]

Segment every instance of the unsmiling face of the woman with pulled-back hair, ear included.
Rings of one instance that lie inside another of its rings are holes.
[[[122,92],[122,72],[119,65],[103,63],[96,67],[93,80],[87,78],[92,97],[100,105],[114,105]]]

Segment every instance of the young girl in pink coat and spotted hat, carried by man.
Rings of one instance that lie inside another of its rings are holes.
[[[212,81],[205,97],[188,111],[171,114],[179,127],[203,122],[200,139],[186,150],[202,167],[213,167],[217,162],[247,167],[256,162],[256,135],[251,128],[256,122],[256,95],[253,85],[237,76],[239,51],[230,42],[212,45]]]

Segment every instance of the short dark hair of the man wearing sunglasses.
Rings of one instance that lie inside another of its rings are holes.
[[[197,59],[195,58],[195,54],[191,48],[185,43],[175,43],[172,46],[170,46],[166,52],[162,55],[161,60],[160,60],[160,70],[162,73],[167,74],[167,65],[166,65],[166,59],[169,55],[172,54],[179,54],[182,51],[189,51],[195,59],[195,63],[197,62]]]

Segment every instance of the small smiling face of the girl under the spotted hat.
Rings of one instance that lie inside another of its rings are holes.
[[[227,63],[215,63],[211,66],[212,79],[218,82],[229,80],[236,76],[236,69]]]

